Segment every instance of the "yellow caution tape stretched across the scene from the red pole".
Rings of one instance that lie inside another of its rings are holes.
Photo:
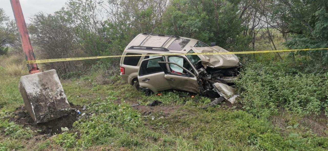
[[[99,58],[112,58],[112,57],[125,57],[125,56],[153,56],[153,55],[209,55],[209,54],[259,54],[259,53],[275,53],[275,52],[293,52],[293,51],[308,51],[308,50],[328,50],[328,48],[315,48],[315,49],[292,49],[292,50],[265,50],[265,51],[247,51],[247,52],[215,52],[215,53],[169,53],[169,54],[135,54],[135,55],[110,55],[110,56],[95,56],[95,57],[78,57],[78,58],[59,58],[59,59],[43,59],[26,61],[30,63],[47,63],[59,61],[72,61],[72,60],[86,60],[86,59],[99,59]]]

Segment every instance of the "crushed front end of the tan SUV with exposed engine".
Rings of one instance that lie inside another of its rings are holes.
[[[228,52],[219,47],[191,47],[189,54]],[[235,102],[234,81],[239,74],[241,64],[235,54],[197,54],[186,55],[198,72],[197,83],[201,95],[212,98],[224,97]]]

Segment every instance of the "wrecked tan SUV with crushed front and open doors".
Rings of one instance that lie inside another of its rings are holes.
[[[215,45],[211,43],[211,45]],[[177,89],[212,98],[236,98],[233,81],[239,72],[234,54],[178,55],[185,53],[227,52],[191,38],[141,33],[125,48],[123,55],[177,54],[121,57],[122,79],[138,90],[157,93]]]

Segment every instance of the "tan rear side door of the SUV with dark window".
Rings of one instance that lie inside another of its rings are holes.
[[[172,88],[165,79],[165,73],[158,64],[159,61],[164,61],[164,57],[157,56],[142,60],[138,72],[140,87],[148,88],[154,93]]]

